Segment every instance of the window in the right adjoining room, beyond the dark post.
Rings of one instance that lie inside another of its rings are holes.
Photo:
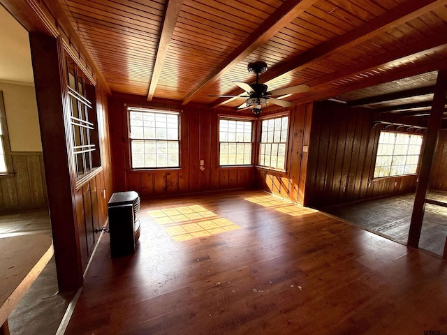
[[[421,145],[422,135],[382,131],[374,178],[416,173]]]

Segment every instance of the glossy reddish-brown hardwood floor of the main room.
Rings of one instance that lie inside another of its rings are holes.
[[[140,214],[135,254],[99,241],[67,335],[447,333],[447,263],[356,225],[262,191]]]

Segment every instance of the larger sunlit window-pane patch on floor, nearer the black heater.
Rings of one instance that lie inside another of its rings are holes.
[[[148,213],[156,223],[163,225],[174,241],[188,241],[240,229],[239,225],[196,204],[157,209]]]

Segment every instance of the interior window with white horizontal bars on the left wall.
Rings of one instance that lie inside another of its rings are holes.
[[[71,103],[71,131],[73,133],[73,159],[76,177],[85,176],[101,165],[96,117],[94,85],[82,70],[67,56],[68,95]]]

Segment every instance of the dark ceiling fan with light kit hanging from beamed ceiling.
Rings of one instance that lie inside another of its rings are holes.
[[[274,98],[274,96],[285,96],[287,94],[303,93],[309,91],[309,87],[305,84],[286,87],[285,89],[274,89],[273,91],[267,91],[267,85],[259,83],[259,74],[267,70],[267,64],[265,64],[264,61],[256,61],[254,63],[250,63],[247,68],[249,70],[249,73],[256,74],[256,83],[247,84],[246,82],[235,82],[238,87],[246,91],[247,95],[219,97],[246,98],[245,102],[238,108],[252,107],[253,112],[256,116],[262,112],[262,108],[266,107],[269,102],[281,107],[293,106],[293,103],[281,100],[279,98]]]

